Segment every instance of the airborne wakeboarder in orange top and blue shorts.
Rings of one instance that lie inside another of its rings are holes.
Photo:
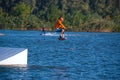
[[[66,27],[62,24],[63,21],[64,19],[62,17],[59,17],[54,26],[54,28],[56,29],[56,32],[61,32],[59,38],[64,38],[64,32]]]

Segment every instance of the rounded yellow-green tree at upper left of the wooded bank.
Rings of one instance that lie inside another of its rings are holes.
[[[19,18],[20,21],[19,23],[21,23],[21,28],[25,28],[27,24],[27,17],[29,17],[30,14],[31,14],[30,6],[26,5],[23,2],[16,4],[16,6],[13,7],[12,15]]]

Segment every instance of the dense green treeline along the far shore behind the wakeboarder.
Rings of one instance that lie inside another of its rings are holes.
[[[0,29],[120,32],[120,0],[0,0]]]

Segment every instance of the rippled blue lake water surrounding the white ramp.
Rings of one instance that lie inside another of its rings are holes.
[[[0,80],[120,80],[120,33],[0,33],[0,47],[28,48],[28,65],[0,66]]]

